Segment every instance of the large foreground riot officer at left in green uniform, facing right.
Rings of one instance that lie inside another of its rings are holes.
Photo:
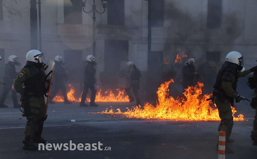
[[[44,94],[49,90],[50,82],[45,78],[46,64],[44,54],[38,50],[30,50],[26,56],[27,62],[18,74],[14,87],[21,95],[21,102],[24,103],[24,115],[27,117],[25,126],[25,140],[23,149],[38,149],[36,143],[47,143],[41,137],[44,121],[46,103]],[[25,88],[23,89],[23,85]]]

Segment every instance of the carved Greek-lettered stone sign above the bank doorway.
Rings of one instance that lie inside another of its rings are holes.
[[[113,38],[136,38],[137,29],[98,28],[97,35],[101,37],[113,37]]]

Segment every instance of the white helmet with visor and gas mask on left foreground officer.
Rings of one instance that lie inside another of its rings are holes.
[[[44,54],[38,50],[30,50],[26,56],[27,61],[41,63],[44,70],[47,69],[46,60]]]

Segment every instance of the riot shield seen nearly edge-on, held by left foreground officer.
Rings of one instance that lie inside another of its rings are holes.
[[[48,92],[44,95],[45,97],[45,102],[46,102],[46,110],[45,110],[45,116],[47,113],[47,108],[48,108],[48,102],[49,102],[49,98],[50,98],[50,93],[51,93],[51,88],[52,88],[52,84],[53,84],[53,77],[54,77],[54,66],[55,63],[52,60],[48,60],[46,62],[46,64],[48,65],[48,68],[45,70],[46,76],[48,76],[46,79],[48,79],[50,81],[50,87]]]

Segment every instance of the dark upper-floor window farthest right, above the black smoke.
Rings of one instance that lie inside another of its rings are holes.
[[[221,0],[208,0],[207,28],[221,27]]]

